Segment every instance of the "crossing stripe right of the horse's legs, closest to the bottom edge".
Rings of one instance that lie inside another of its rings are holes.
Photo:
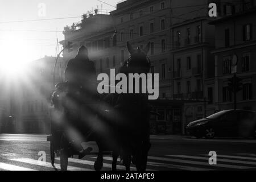
[[[94,158],[94,157],[93,157]],[[104,157],[104,160],[112,160],[111,157]],[[168,164],[168,163],[156,163],[156,162],[147,162],[148,166],[154,166],[154,167],[164,167],[164,168],[178,168],[182,170],[187,170],[187,171],[208,171],[208,170],[213,170],[213,169],[207,169],[207,168],[198,168],[198,167],[189,167],[189,166],[181,166],[181,165],[175,165],[175,164]],[[151,169],[148,169],[148,171],[151,171]]]

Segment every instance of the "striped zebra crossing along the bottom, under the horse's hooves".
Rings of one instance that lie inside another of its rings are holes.
[[[75,158],[69,159],[68,171],[92,171],[95,156],[88,156],[84,160]],[[255,154],[234,154],[217,155],[217,164],[209,164],[208,155],[166,155],[166,156],[148,156],[147,171],[212,171],[212,170],[256,170]],[[55,159],[55,169],[60,169],[60,159]],[[104,171],[112,168],[112,157],[104,157]],[[10,158],[4,161],[0,159],[0,170],[3,171],[40,171],[55,170],[51,163],[42,162],[30,158]],[[118,162],[118,170],[125,170],[125,167]],[[132,165],[131,171],[136,168]]]

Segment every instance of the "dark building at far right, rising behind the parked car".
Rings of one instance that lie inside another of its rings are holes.
[[[238,5],[233,14],[211,23],[216,27],[215,49],[212,51],[215,76],[211,107],[214,111],[234,108],[234,92],[229,87],[228,79],[235,73],[241,79],[241,90],[236,94],[237,109],[256,110],[255,17],[255,2],[248,1],[242,6]],[[237,70],[233,72],[232,67],[235,65]]]

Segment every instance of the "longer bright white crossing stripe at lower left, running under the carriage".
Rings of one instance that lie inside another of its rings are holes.
[[[41,162],[39,160],[34,160],[34,159],[23,158],[23,159],[9,159],[9,160],[13,160],[13,161],[16,161],[16,162],[27,163],[27,164],[33,164],[33,165],[36,165],[36,166],[43,166],[43,167],[53,168],[51,163],[48,163],[48,162],[45,163],[45,162]],[[55,164],[55,167],[57,169],[60,169],[60,164]],[[68,166],[68,171],[92,171],[92,169]]]

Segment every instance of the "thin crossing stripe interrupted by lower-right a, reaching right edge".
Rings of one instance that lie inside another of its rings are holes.
[[[188,156],[188,155],[167,155],[170,157],[175,158],[187,158],[187,159],[199,159],[199,160],[207,160],[209,158],[206,157],[199,157],[199,156]],[[248,162],[248,161],[241,161],[241,160],[230,160],[230,159],[217,159],[218,162],[226,162],[226,163],[236,163],[236,164],[249,164],[249,165],[256,165],[256,162]],[[218,164],[217,164],[218,165]]]

